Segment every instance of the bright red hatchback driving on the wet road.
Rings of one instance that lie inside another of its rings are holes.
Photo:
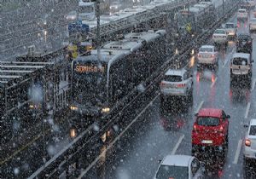
[[[195,114],[192,130],[192,153],[205,147],[214,147],[222,152],[229,140],[229,118],[224,110],[202,108]]]

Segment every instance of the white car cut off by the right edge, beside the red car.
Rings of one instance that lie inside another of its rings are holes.
[[[256,159],[256,119],[245,125],[248,128],[244,141],[244,159]]]

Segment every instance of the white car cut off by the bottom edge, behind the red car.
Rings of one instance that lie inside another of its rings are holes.
[[[167,155],[154,175],[154,179],[201,179],[204,177],[204,164],[189,155]]]

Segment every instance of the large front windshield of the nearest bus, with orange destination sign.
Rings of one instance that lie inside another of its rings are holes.
[[[106,99],[107,64],[97,61],[73,63],[73,99],[79,103],[101,103]]]

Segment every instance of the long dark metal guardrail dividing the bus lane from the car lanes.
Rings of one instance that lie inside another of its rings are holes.
[[[203,34],[201,34],[201,36],[197,38],[196,43],[189,43],[189,48],[187,46],[187,49],[183,49],[182,55],[172,56],[168,61],[166,61],[166,63],[163,66],[161,66],[160,72],[154,72],[154,74],[145,82],[147,87],[145,88],[143,93],[140,93],[137,89],[134,89],[131,91],[130,95],[125,96],[125,98],[122,101],[120,101],[117,105],[122,109],[119,110],[119,113],[116,114],[115,112],[117,110],[117,107],[115,107],[113,111],[111,111],[107,116],[105,116],[105,119],[111,118],[111,120],[106,120],[107,123],[104,124],[104,126],[102,126],[102,129],[100,131],[98,131],[96,134],[92,134],[90,131],[81,134],[76,143],[73,143],[70,146],[70,148],[67,148],[66,151],[62,151],[61,155],[58,155],[58,157],[55,158],[55,161],[51,161],[49,165],[44,165],[44,167],[39,169],[36,173],[34,173],[34,175],[32,175],[31,178],[36,176],[38,176],[39,178],[56,177],[60,175],[63,170],[67,170],[70,164],[73,164],[79,159],[79,154],[83,153],[84,148],[90,148],[96,145],[97,139],[100,136],[102,136],[106,131],[108,131],[108,129],[119,120],[119,117],[122,112],[125,112],[128,107],[133,106],[134,102],[140,101],[139,99],[142,99],[143,96],[148,93],[148,91],[150,92],[158,88],[158,84],[160,83],[160,80],[164,76],[166,70],[169,69],[170,66],[177,65],[177,57],[179,59],[183,59],[183,61],[178,62],[180,63],[180,66],[186,66],[189,59],[187,57],[190,55],[191,49],[196,49],[202,43],[205,43],[209,36],[212,35],[214,29],[217,28],[223,21],[227,20],[230,17],[230,14],[234,13],[234,11],[237,8],[237,4],[238,3],[232,3],[232,6],[230,6],[230,9],[228,9],[228,12],[224,15],[224,17],[218,20],[217,23],[214,23],[211,26],[211,30],[209,32],[204,32]],[[126,101],[129,101],[129,103],[127,104]]]

